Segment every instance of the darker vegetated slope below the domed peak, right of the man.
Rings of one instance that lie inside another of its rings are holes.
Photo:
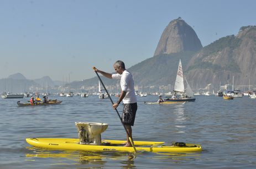
[[[134,81],[141,85],[174,84],[179,59],[183,69],[195,52],[160,54],[136,64],[128,70],[132,72]]]

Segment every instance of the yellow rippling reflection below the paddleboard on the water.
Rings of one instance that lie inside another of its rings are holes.
[[[27,147],[30,153],[26,154],[26,161],[36,161],[37,159],[54,159],[56,165],[70,165],[70,163],[81,164],[91,167],[111,166],[112,161],[119,161],[121,168],[137,168],[135,165],[136,158],[147,156],[147,159],[157,161],[187,161],[195,160],[201,156],[201,152],[196,153],[168,153],[168,152],[139,152],[132,154],[130,152],[108,151],[108,152],[92,152],[92,151],[60,151],[45,150],[35,147]],[[170,162],[171,162],[170,161]],[[54,164],[53,164],[54,165]]]

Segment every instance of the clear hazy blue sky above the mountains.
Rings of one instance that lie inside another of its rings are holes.
[[[153,57],[171,20],[181,17],[203,46],[256,25],[256,1],[0,0],[0,79],[22,73],[70,81]]]

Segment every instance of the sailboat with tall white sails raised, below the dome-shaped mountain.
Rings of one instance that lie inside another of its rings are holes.
[[[194,92],[190,88],[190,85],[187,82],[186,78],[185,80],[187,83],[187,88],[185,90],[184,78],[185,77],[183,75],[182,64],[180,60],[179,67],[177,69],[176,80],[174,84],[174,94],[171,97],[171,99],[166,99],[165,101],[195,101],[196,100],[194,98]]]

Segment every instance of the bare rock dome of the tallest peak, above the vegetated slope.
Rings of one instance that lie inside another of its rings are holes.
[[[181,18],[174,19],[164,29],[154,56],[201,50],[202,44],[196,32]]]

